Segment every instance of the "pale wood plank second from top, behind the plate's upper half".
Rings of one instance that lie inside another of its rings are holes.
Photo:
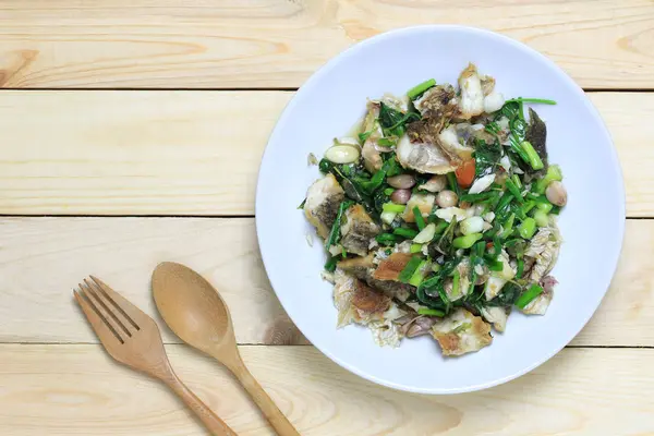
[[[589,95],[626,169],[628,216],[654,216],[654,123],[641,121],[654,117],[654,94]],[[0,214],[253,214],[261,156],[291,97],[4,92]]]

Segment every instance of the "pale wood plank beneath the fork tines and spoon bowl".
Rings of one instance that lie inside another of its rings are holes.
[[[654,221],[629,220],[613,287],[573,344],[654,347],[653,255]],[[71,293],[89,274],[159,319],[149,276],[162,261],[220,289],[240,343],[307,343],[270,289],[250,218],[0,219],[0,342],[96,342]]]

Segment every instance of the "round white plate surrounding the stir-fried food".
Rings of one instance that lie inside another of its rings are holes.
[[[429,337],[379,348],[359,326],[336,329],[331,284],[320,279],[323,244],[298,205],[319,177],[307,155],[322,157],[365,111],[366,98],[405,94],[426,78],[456,84],[474,62],[497,80],[506,98],[540,97],[550,162],[559,164],[568,205],[565,243],[553,275],[560,284],[545,316],[517,311],[491,347],[445,359]],[[422,26],[367,39],[316,72],[286,108],[268,142],[256,193],[256,228],[272,288],[302,332],[341,366],[375,383],[425,393],[487,388],[538,366],[586,324],[615,271],[625,228],[618,158],[582,89],[544,56],[507,37],[458,26]]]

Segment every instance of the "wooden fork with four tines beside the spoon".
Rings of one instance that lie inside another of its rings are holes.
[[[90,280],[84,279],[74,294],[88,323],[113,359],[168,385],[211,434],[237,436],[174,374],[153,318],[93,276]]]

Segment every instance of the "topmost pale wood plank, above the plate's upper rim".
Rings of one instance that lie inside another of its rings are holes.
[[[5,0],[5,87],[296,87],[355,41],[416,24],[486,27],[582,86],[654,87],[649,0]]]

